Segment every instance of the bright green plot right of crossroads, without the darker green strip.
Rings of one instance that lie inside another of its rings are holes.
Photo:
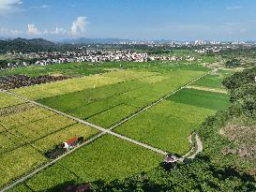
[[[188,135],[215,111],[164,100],[114,129],[134,140],[177,154],[188,151]]]

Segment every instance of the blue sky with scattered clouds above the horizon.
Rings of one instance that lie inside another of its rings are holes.
[[[0,37],[256,40],[256,0],[0,0]]]

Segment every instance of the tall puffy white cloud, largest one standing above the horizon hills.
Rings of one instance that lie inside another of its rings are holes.
[[[70,34],[72,36],[83,36],[88,23],[86,17],[77,17],[76,21],[72,23]]]

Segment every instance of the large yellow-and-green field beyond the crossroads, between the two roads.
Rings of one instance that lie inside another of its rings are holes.
[[[13,92],[98,126],[109,127],[203,73],[197,70],[161,73],[121,70],[97,77],[35,85]],[[96,80],[98,83],[95,83]],[[77,86],[73,89],[74,83]]]

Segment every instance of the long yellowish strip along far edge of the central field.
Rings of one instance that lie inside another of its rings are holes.
[[[155,74],[155,72],[135,72],[132,70],[112,71],[103,75],[92,75],[82,78],[69,79],[66,81],[56,81],[24,87],[22,89],[15,89],[13,92],[22,96],[29,97],[31,99],[42,99],[50,96],[64,95],[122,81],[134,80]]]

